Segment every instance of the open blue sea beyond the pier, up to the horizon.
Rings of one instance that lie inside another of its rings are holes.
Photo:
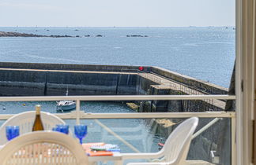
[[[0,31],[92,35],[0,38],[1,61],[152,65],[224,87],[229,86],[235,61],[232,27],[0,27]]]

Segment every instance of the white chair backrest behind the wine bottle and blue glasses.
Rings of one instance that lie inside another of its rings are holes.
[[[6,126],[13,125],[20,127],[20,134],[25,134],[32,131],[33,123],[36,117],[35,111],[28,111],[18,113],[11,118],[7,119],[0,127],[0,145],[6,144]],[[65,122],[49,112],[41,112],[41,119],[43,122],[44,130],[51,130],[56,124],[65,124]],[[70,132],[70,135],[72,133]]]

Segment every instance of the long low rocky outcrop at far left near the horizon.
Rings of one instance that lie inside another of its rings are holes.
[[[34,35],[34,34],[27,34],[27,33],[0,31],[0,37],[52,37],[52,38],[62,38],[62,37],[73,37],[73,36],[70,36],[70,35]]]

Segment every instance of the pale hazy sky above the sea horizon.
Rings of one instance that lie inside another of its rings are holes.
[[[235,0],[0,0],[0,26],[234,26]]]

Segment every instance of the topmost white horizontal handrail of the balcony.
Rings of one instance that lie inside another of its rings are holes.
[[[36,96],[0,97],[0,101],[145,101],[145,100],[235,100],[235,95],[104,95],[104,96]]]

